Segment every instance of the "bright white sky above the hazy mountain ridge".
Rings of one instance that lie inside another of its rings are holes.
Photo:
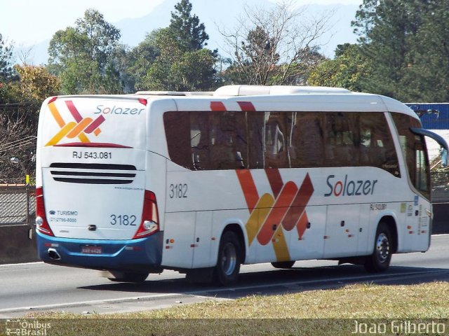
[[[7,43],[21,48],[49,39],[60,29],[74,26],[76,19],[83,17],[87,8],[97,9],[107,22],[114,24],[126,18],[147,15],[161,2],[163,0],[0,0],[0,34]],[[191,2],[194,6],[195,0]],[[293,0],[298,5],[359,5],[362,2],[363,0]]]

